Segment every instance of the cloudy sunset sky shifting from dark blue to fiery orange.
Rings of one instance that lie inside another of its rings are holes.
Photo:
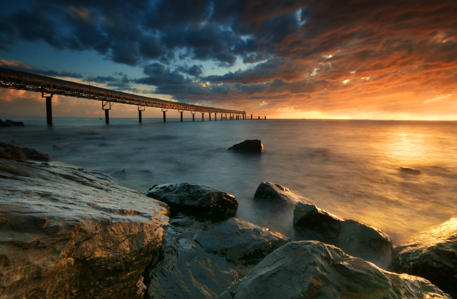
[[[1,6],[3,68],[269,119],[457,120],[455,0]],[[52,101],[54,117],[104,116],[99,101]],[[0,88],[0,116],[21,115],[46,115],[41,93]]]

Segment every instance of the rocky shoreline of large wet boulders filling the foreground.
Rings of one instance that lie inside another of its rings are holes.
[[[0,298],[457,296],[457,218],[393,245],[262,182],[259,211],[293,213],[296,235],[283,236],[237,219],[223,191],[182,183],[140,194],[24,151],[0,144]]]

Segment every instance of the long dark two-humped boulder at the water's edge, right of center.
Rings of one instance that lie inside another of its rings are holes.
[[[343,220],[315,205],[297,203],[293,227],[302,240],[316,240],[386,268],[392,243],[382,231],[354,220]]]

